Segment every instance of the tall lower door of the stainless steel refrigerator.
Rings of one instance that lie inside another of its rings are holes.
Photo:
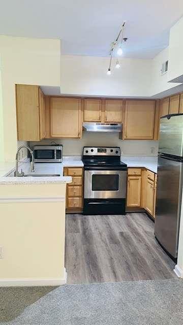
[[[182,163],[158,157],[155,236],[171,256],[177,257],[182,194]]]

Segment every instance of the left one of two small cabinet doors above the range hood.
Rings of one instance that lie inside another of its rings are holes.
[[[84,100],[84,122],[101,122],[102,101],[98,99]]]

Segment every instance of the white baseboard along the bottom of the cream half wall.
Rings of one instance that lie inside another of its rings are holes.
[[[63,278],[4,278],[0,279],[0,287],[5,286],[58,286],[67,282],[67,272],[64,268]]]

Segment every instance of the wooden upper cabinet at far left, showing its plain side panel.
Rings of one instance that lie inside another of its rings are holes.
[[[41,93],[39,86],[16,85],[18,140],[40,141],[45,137],[45,105]]]

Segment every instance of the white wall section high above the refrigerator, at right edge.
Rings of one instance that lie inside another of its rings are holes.
[[[170,29],[169,39],[169,81],[181,76],[183,82],[183,17]],[[175,80],[176,82],[179,80]]]

